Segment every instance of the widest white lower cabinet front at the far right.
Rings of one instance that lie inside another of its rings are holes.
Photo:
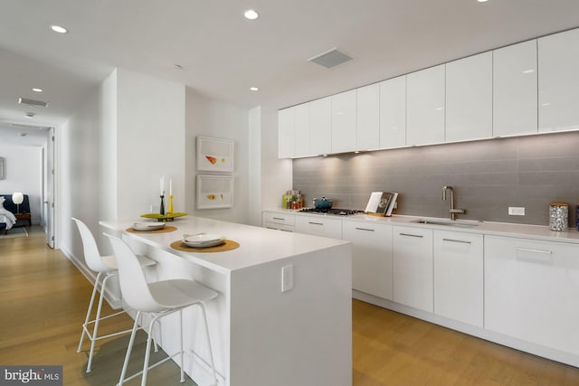
[[[485,236],[485,328],[579,354],[579,245]]]

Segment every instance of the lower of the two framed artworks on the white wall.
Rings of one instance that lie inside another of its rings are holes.
[[[233,207],[233,175],[197,174],[197,209]]]

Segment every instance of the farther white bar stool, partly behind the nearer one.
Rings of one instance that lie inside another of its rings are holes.
[[[113,276],[119,275],[119,270],[117,268],[117,261],[114,256],[100,256],[99,249],[97,247],[97,241],[94,240],[92,233],[89,230],[89,227],[79,219],[72,218],[81,233],[81,240],[82,240],[82,249],[84,251],[84,259],[89,266],[95,272],[98,272],[97,278],[94,282],[94,288],[92,289],[92,295],[90,296],[89,302],[89,309],[87,310],[87,315],[84,319],[84,324],[82,324],[82,334],[81,334],[81,341],[79,342],[79,348],[77,349],[77,353],[81,353],[82,349],[82,342],[84,340],[84,336],[90,339],[90,352],[89,352],[89,362],[87,364],[87,372],[90,372],[92,366],[92,357],[94,355],[94,348],[95,343],[100,339],[109,338],[111,336],[116,336],[120,334],[128,334],[131,329],[119,331],[118,333],[107,334],[107,335],[98,335],[99,332],[99,324],[101,320],[108,319],[109,317],[113,317],[116,315],[120,315],[125,313],[125,311],[119,311],[117,313],[101,316],[100,311],[102,309],[102,300],[104,299],[105,289],[107,287],[107,281],[109,278]],[[148,259],[144,256],[139,256],[138,264],[141,266],[152,266],[155,265],[156,262],[154,260]],[[100,279],[102,279],[102,284],[100,284]],[[99,286],[100,285],[100,286]],[[100,289],[99,289],[100,287]],[[93,320],[90,320],[90,314],[92,312],[92,306],[94,306],[94,300],[97,295],[97,291],[100,291],[99,297],[99,306],[97,308],[97,315]],[[92,333],[90,333],[89,326],[94,325],[92,329]]]

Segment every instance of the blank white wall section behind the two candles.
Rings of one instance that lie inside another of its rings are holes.
[[[118,70],[118,219],[157,212],[161,175],[175,212],[185,212],[185,86]]]

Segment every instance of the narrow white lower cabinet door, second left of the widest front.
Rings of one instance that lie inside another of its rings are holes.
[[[394,226],[393,258],[394,301],[432,312],[432,230]]]

